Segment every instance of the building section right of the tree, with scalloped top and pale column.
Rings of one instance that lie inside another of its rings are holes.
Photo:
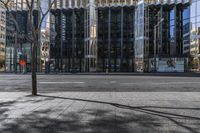
[[[96,71],[94,4],[94,0],[54,3],[50,11],[50,71]]]

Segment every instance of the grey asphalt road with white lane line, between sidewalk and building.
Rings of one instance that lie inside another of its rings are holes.
[[[39,92],[199,92],[200,77],[38,75]],[[0,75],[0,91],[31,91],[31,75]]]

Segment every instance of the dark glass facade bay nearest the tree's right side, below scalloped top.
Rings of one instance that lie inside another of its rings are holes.
[[[83,72],[84,9],[54,9],[51,14],[51,34],[55,34],[50,46],[51,71]]]

